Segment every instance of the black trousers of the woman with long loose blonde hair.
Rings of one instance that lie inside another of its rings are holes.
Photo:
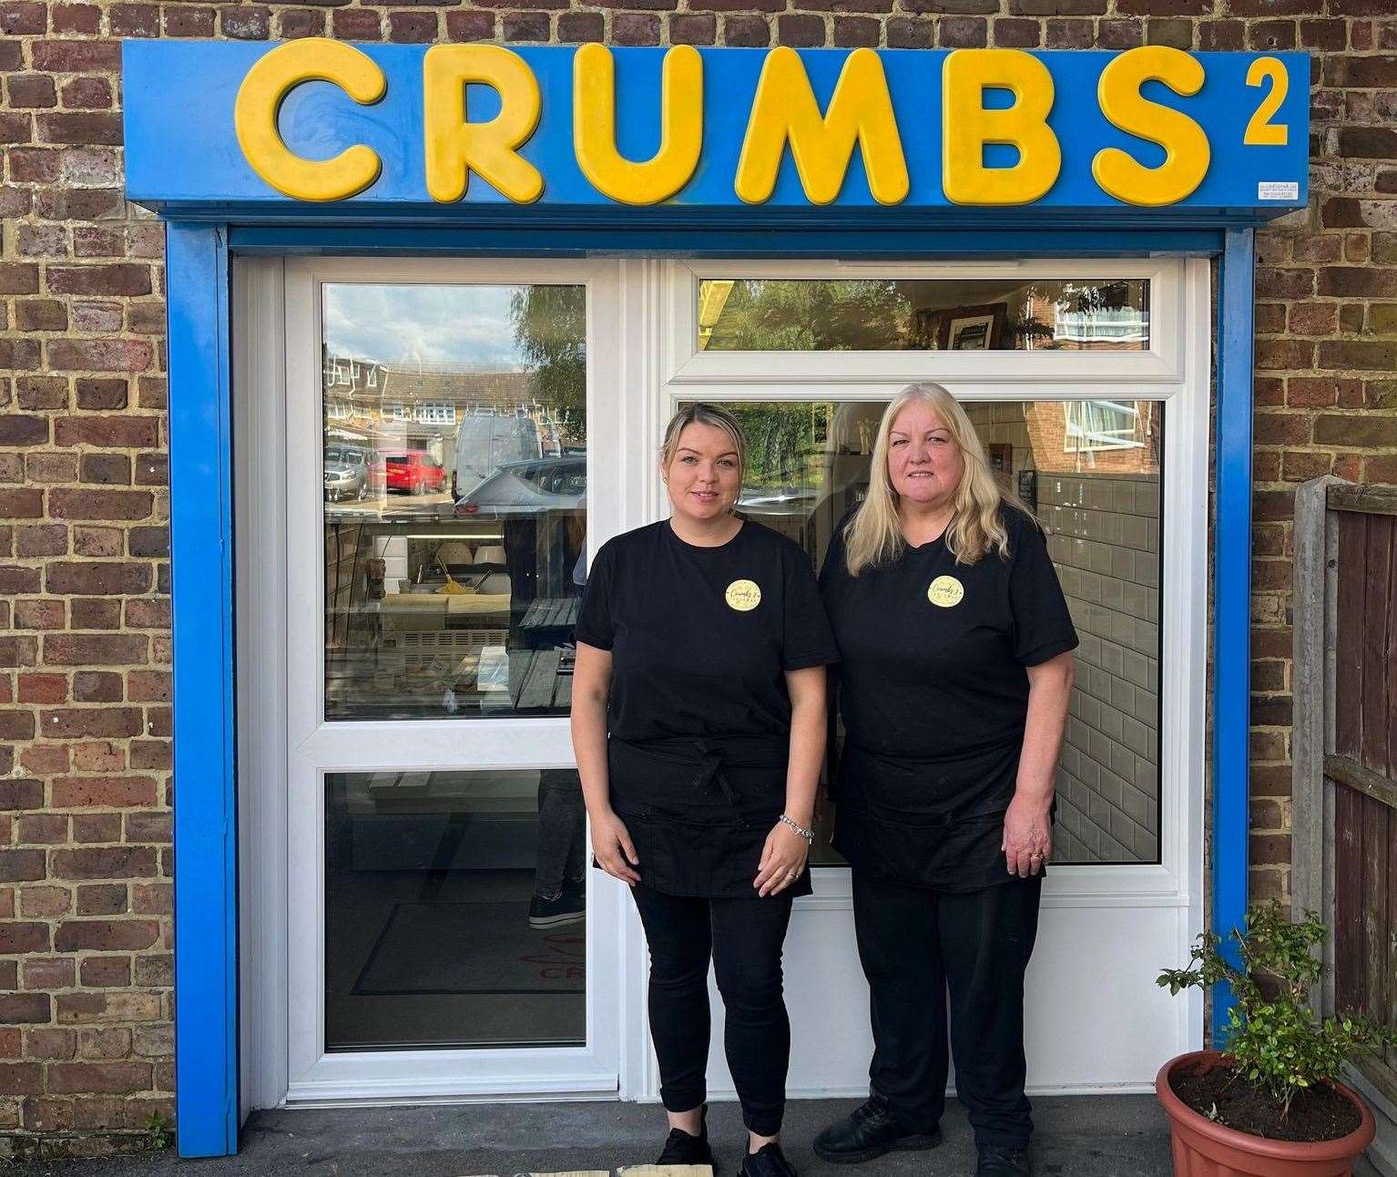
[[[929,1132],[942,1118],[949,992],[956,1092],[975,1143],[1028,1145],[1024,970],[1041,892],[1041,878],[961,895],[854,872],[854,921],[873,1020],[869,1079],[909,1131]]]

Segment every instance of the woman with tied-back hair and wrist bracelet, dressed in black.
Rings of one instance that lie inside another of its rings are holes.
[[[781,951],[824,758],[838,657],[814,573],[733,513],[742,431],[694,404],[669,422],[671,517],[609,540],[577,619],[573,746],[598,865],[630,885],[650,944],[650,1027],[669,1113],[661,1164],[711,1164],[708,963],[747,1149],[742,1177],[795,1177],[777,1135],[791,1025]]]

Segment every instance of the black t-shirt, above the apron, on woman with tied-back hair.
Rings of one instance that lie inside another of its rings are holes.
[[[608,730],[626,741],[787,737],[785,671],[838,660],[809,558],[750,520],[717,548],[666,520],[608,540],[576,636],[612,653]]]

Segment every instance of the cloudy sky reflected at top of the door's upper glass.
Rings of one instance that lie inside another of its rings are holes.
[[[377,363],[524,366],[510,320],[518,287],[386,287],[327,282],[326,347]]]

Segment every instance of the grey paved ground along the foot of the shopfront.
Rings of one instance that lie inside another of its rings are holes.
[[[787,1111],[784,1145],[802,1177],[971,1177],[975,1148],[958,1106],[947,1110],[944,1142],[922,1153],[891,1153],[862,1166],[820,1162],[810,1141],[856,1100],[799,1100]],[[1077,1096],[1034,1102],[1039,1177],[1169,1177],[1168,1127],[1153,1096]],[[0,1177],[474,1177],[616,1169],[654,1159],[664,1113],[634,1103],[513,1103],[415,1109],[257,1113],[242,1152],[180,1160],[173,1152],[103,1160],[0,1166]],[[710,1136],[718,1177],[735,1177],[743,1148],[736,1104],[715,1103]]]

